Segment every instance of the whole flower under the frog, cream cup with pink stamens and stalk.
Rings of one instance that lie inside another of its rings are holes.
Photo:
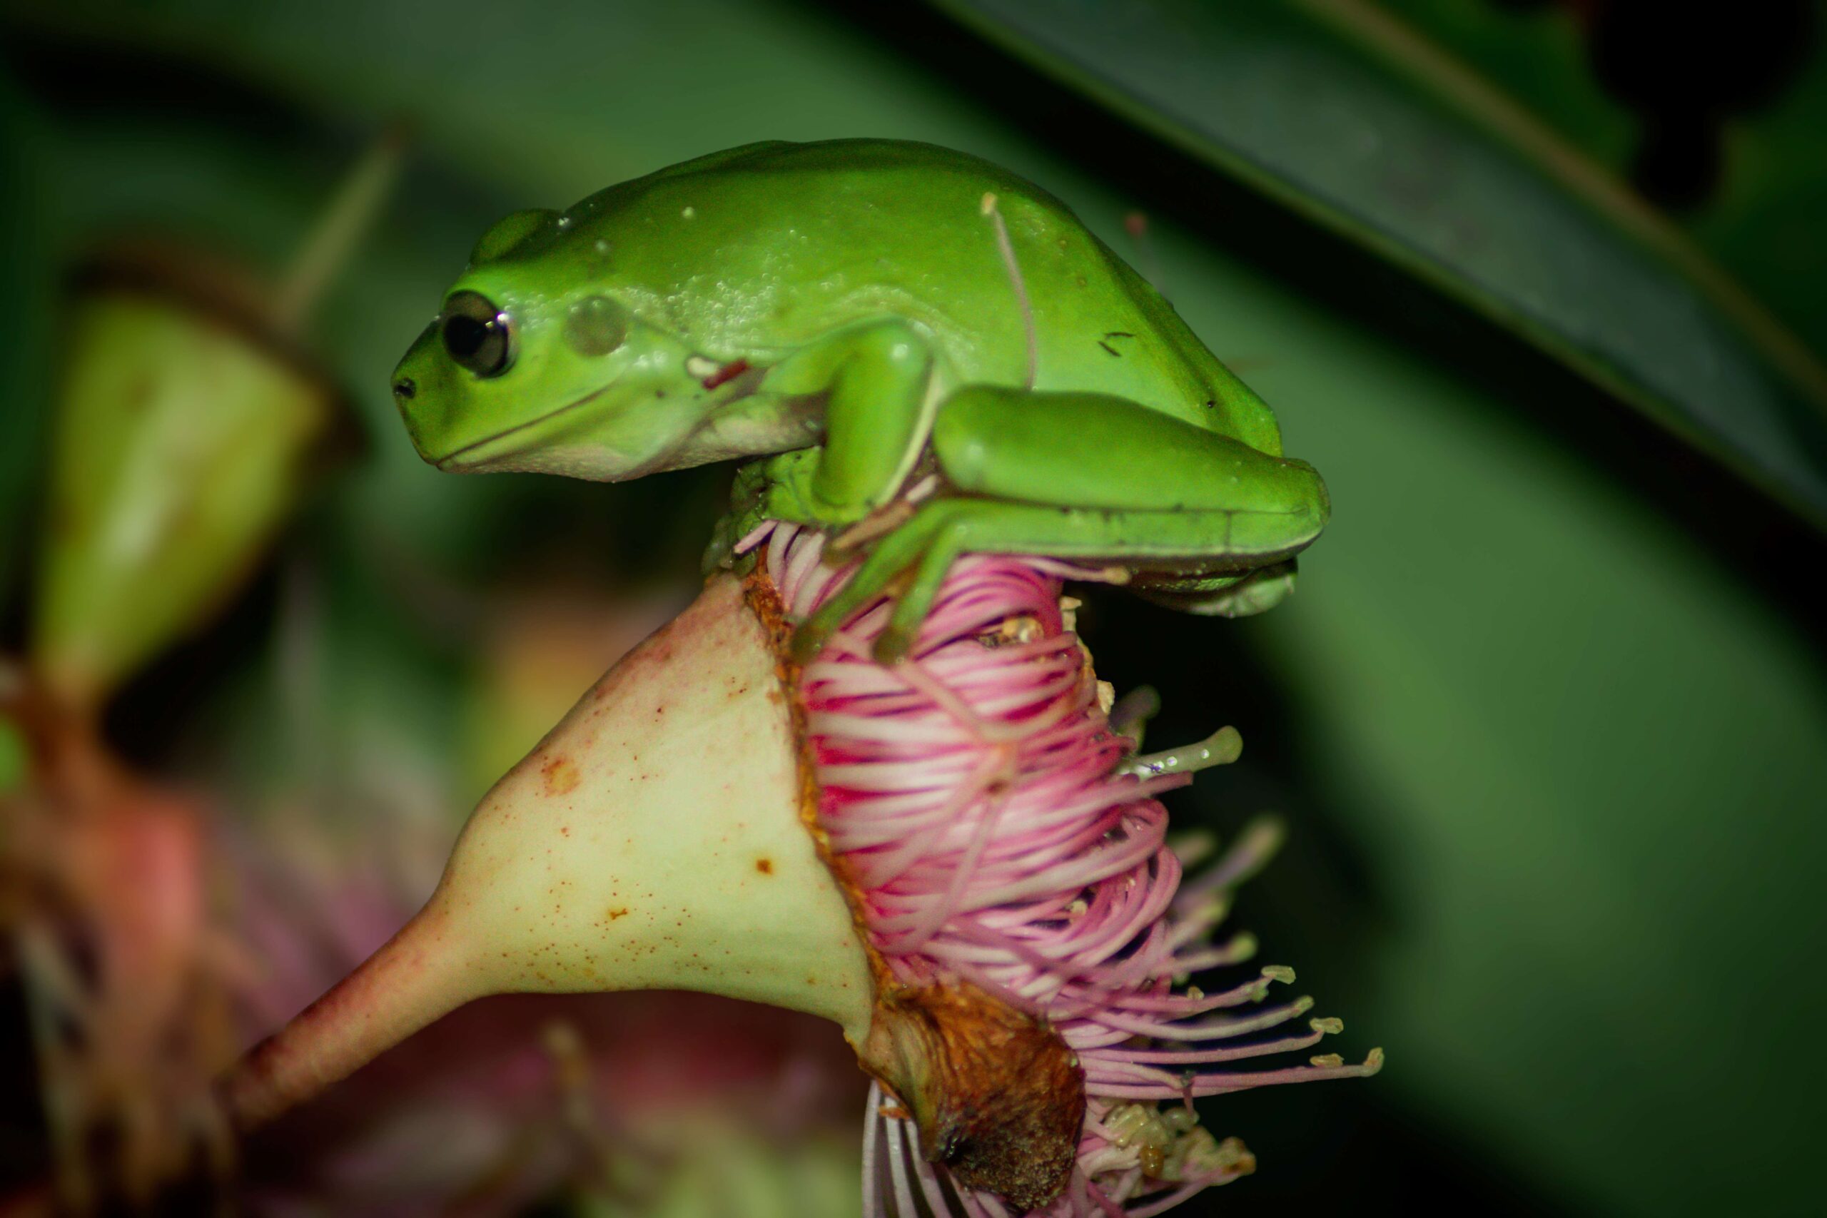
[[[1253,1165],[1193,1097],[1378,1068],[1230,1068],[1339,1030],[1273,1034],[1312,1006],[1262,1004],[1290,970],[1175,988],[1253,951],[1209,935],[1262,835],[1180,884],[1155,796],[1235,736],[1131,756],[1061,610],[1072,572],[961,559],[904,663],[870,657],[877,603],[798,670],[789,623],[850,568],[791,526],[744,548],[756,573],[586,694],[426,911],[228,1079],[243,1125],[481,993],[692,988],[842,1026],[877,1081],[871,1214],[1142,1218]]]

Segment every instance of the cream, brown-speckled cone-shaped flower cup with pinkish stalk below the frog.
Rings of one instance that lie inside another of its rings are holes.
[[[426,908],[230,1074],[236,1123],[490,993],[700,990],[861,1045],[870,959],[808,824],[793,716],[771,623],[711,579],[484,796]]]

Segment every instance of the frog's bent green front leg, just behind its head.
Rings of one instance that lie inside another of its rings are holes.
[[[932,347],[886,318],[775,365],[760,391],[824,398],[824,446],[764,464],[762,515],[833,528],[888,504],[919,460],[937,407]]]

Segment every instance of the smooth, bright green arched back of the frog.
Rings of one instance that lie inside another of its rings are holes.
[[[566,228],[601,252],[596,274],[711,354],[784,354],[899,316],[934,336],[957,383],[1019,385],[1023,320],[985,195],[1032,303],[1036,389],[1125,396],[1281,451],[1268,407],[1153,287],[1056,197],[979,157],[749,144],[592,195]]]

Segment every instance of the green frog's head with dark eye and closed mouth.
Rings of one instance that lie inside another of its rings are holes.
[[[555,212],[490,228],[393,371],[393,400],[438,469],[619,482],[696,464],[714,407],[700,358],[636,316]],[[692,369],[687,369],[687,362]]]

